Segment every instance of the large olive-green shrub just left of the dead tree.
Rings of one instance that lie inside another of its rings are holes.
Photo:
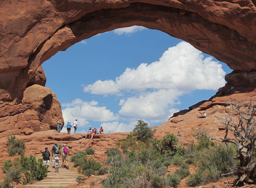
[[[186,181],[188,186],[215,182],[221,174],[227,173],[230,166],[235,165],[233,159],[236,148],[233,146],[217,145],[200,152],[196,173],[190,175]]]

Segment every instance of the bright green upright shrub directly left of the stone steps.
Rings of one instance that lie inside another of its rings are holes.
[[[36,161],[35,156],[30,154],[26,160],[26,168],[24,172],[25,178],[23,183],[32,183],[33,181],[40,181],[47,176],[47,168],[43,165],[43,160]]]

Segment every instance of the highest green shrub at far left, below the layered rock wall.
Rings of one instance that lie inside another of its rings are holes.
[[[16,153],[21,154],[25,149],[23,140],[16,139],[15,135],[7,137],[7,152],[10,156],[14,156]]]

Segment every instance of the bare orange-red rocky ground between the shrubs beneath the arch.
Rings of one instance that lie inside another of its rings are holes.
[[[242,92],[241,92],[242,91]],[[213,138],[222,138],[225,135],[224,131],[219,131],[218,127],[221,127],[219,120],[222,119],[225,114],[230,112],[228,106],[226,106],[227,100],[238,99],[248,100],[250,97],[256,95],[255,89],[247,88],[235,88],[231,94],[225,94],[221,97],[212,97],[208,101],[199,102],[193,105],[189,110],[182,110],[171,117],[168,121],[162,125],[153,127],[157,131],[154,135],[157,139],[162,139],[164,135],[168,133],[176,134],[177,131],[181,133],[179,137],[180,144],[186,145],[192,139],[193,131],[192,128],[197,129],[203,127],[209,131],[210,136]],[[205,111],[207,114],[206,118],[197,118],[202,112]],[[231,136],[231,135],[230,135]],[[106,150],[111,147],[116,147],[116,143],[120,139],[126,138],[126,133],[109,133],[96,135],[94,139],[85,139],[85,134],[66,135],[65,133],[58,133],[56,130],[38,131],[31,135],[17,135],[18,139],[24,140],[26,144],[25,155],[30,154],[38,156],[47,146],[49,149],[57,141],[59,146],[67,144],[70,148],[70,155],[74,155],[78,151],[84,151],[87,147],[91,147],[95,150],[95,159],[103,162],[106,158]],[[14,159],[9,157],[7,153],[7,142],[6,137],[0,139],[0,165],[6,159]],[[17,157],[17,156],[16,156]],[[72,166],[72,164],[70,165]],[[75,170],[71,167],[71,170]],[[169,167],[169,173],[175,170],[175,166]],[[190,166],[190,171],[193,173],[195,170],[194,166]],[[3,180],[5,174],[0,171],[0,182]],[[89,187],[91,181],[98,180],[99,177],[92,176],[87,178],[83,187]],[[211,183],[209,186],[218,185],[219,187],[232,186],[235,178],[223,179],[216,183]],[[72,185],[71,187],[80,187],[81,185]],[[185,187],[185,180],[181,182],[179,187]],[[95,185],[100,187],[100,185]]]

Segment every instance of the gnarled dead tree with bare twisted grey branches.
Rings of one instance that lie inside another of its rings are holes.
[[[224,125],[219,130],[226,130],[226,135],[219,142],[233,143],[237,147],[240,164],[229,168],[230,172],[222,176],[236,175],[238,183],[256,182],[256,160],[251,161],[254,152],[256,138],[256,100],[246,101],[232,100],[227,103],[233,111],[225,117],[221,123]],[[228,132],[234,134],[234,138],[227,138]]]

